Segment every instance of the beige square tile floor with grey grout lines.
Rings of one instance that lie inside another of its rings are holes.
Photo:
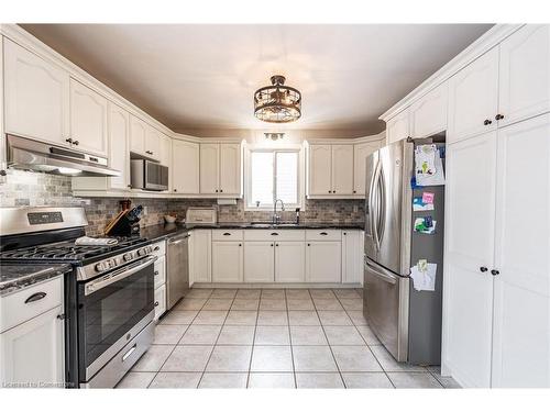
[[[398,364],[355,289],[194,289],[118,388],[458,388]]]

